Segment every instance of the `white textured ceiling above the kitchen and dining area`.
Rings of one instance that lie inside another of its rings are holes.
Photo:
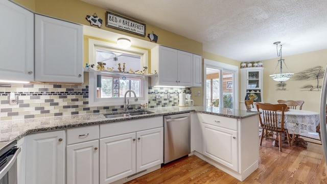
[[[327,49],[326,0],[82,0],[203,43],[238,61]],[[159,39],[160,39],[160,35]]]

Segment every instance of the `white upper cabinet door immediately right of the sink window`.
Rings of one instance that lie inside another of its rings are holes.
[[[159,46],[159,84],[177,85],[177,50]]]

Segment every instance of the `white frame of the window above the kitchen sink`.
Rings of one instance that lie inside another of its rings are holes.
[[[96,40],[96,39],[88,39],[88,61],[90,64],[96,63],[96,49],[97,47],[108,48],[110,50],[133,53],[141,56],[141,66],[146,66],[148,63],[148,51],[137,48],[128,48],[128,49],[120,49],[117,44],[110,43],[106,41]],[[117,74],[118,76],[129,74]],[[134,74],[135,75],[135,74]],[[124,105],[124,97],[122,98],[97,98],[97,72],[89,72],[88,74],[88,105],[89,107],[97,107],[97,106],[115,106],[115,105]],[[126,100],[129,99],[129,104],[140,104],[141,101],[148,100],[148,77],[143,76],[142,81],[142,97],[137,97],[138,101],[134,102],[134,97],[126,97]]]

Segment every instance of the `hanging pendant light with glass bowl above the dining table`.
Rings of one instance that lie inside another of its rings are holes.
[[[282,45],[280,45],[280,49],[278,51],[278,44],[281,43],[280,41],[277,41],[277,42],[274,42],[274,44],[276,45],[276,50],[277,50],[277,56],[281,57],[281,59],[278,60],[278,63],[276,65],[276,68],[275,68],[275,72],[273,75],[270,75],[270,77],[274,80],[274,81],[277,81],[277,82],[284,82],[284,81],[287,81],[289,80],[292,75],[294,75],[294,73],[290,73],[290,71],[288,70],[288,67],[285,63],[285,60],[282,59]],[[284,63],[288,73],[283,73],[283,67],[282,67],[282,64]],[[277,71],[277,66],[280,64],[280,67],[279,67],[279,74],[277,73],[276,74],[276,71]]]

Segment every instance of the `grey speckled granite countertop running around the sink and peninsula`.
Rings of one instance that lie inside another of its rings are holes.
[[[244,119],[260,114],[260,112],[254,112],[254,111],[227,109],[227,108],[219,108],[219,107],[206,107],[206,106],[158,107],[158,108],[149,108],[146,110],[150,110],[154,113],[131,116],[131,117],[122,117],[122,118],[105,118],[104,114],[121,113],[121,111],[116,111],[116,112],[77,114],[72,116],[2,121],[0,123],[0,142],[13,141],[13,140],[18,141],[19,139],[26,136],[27,134],[41,132],[41,131],[60,130],[60,129],[88,126],[88,125],[99,125],[99,124],[120,122],[126,120],[136,120],[142,118],[165,116],[170,114],[184,113],[184,112],[191,112],[191,111],[214,114],[217,116],[223,116],[223,117],[235,118],[235,119]]]

